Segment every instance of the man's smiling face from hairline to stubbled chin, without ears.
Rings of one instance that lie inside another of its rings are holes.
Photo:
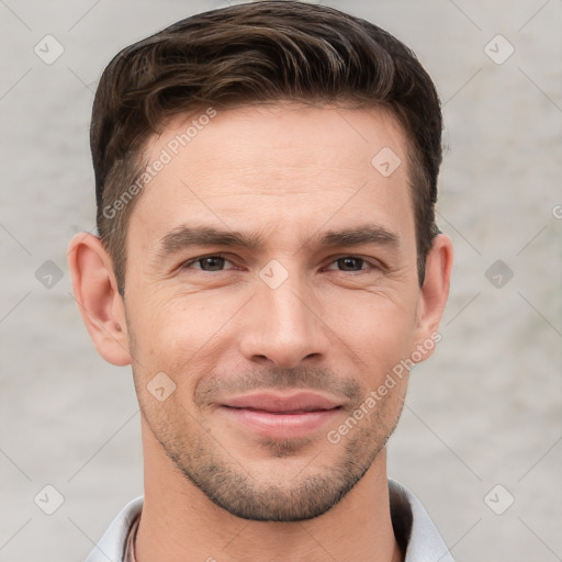
[[[148,162],[172,155],[188,125],[154,137]],[[384,147],[402,160],[390,176],[371,162]],[[248,106],[220,112],[139,195],[125,312],[144,424],[234,515],[325,513],[397,423],[407,376],[364,403],[427,337],[406,161],[403,131],[380,110]],[[187,228],[255,245],[188,244]],[[361,243],[322,241],[367,228]],[[150,392],[171,381],[166,400]]]

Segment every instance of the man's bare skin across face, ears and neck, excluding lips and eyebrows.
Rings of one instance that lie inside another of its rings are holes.
[[[192,119],[151,137],[147,162]],[[389,177],[371,164],[383,147],[402,160]],[[100,240],[72,239],[74,290],[93,342],[133,367],[145,456],[137,562],[403,559],[384,446],[407,373],[338,442],[327,434],[431,340],[446,304],[451,243],[436,237],[419,288],[406,162],[404,132],[379,109],[238,108],[218,113],[137,195],[124,300]],[[394,244],[318,244],[327,231],[367,224]],[[186,226],[262,244],[162,252],[164,237]],[[282,282],[272,288],[263,272]],[[173,389],[164,401],[149,390],[157,373],[159,387]],[[340,408],[305,436],[272,438],[222,406],[272,389],[310,390]]]

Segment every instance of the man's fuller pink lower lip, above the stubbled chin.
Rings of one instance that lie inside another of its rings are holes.
[[[262,409],[234,408],[221,409],[236,423],[252,431],[270,438],[299,438],[317,430],[339,415],[340,408],[317,409],[300,414],[273,414]]]

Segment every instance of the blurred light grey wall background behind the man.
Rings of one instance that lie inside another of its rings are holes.
[[[562,2],[326,3],[413,47],[447,123],[439,224],[456,246],[452,292],[442,341],[412,375],[390,474],[459,562],[562,560]],[[88,126],[105,64],[222,5],[0,0],[1,561],[83,560],[142,493],[131,371],[97,355],[66,248],[94,226]],[[50,65],[34,53],[47,34],[65,49]],[[503,64],[497,34],[515,48]],[[63,274],[50,288],[48,260]],[[34,502],[47,484],[65,498],[50,516],[40,506],[53,493]]]

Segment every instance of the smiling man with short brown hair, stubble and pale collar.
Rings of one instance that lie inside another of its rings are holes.
[[[131,364],[144,496],[88,561],[450,561],[386,475],[439,341],[441,114],[415,56],[337,10],[262,1],[123,49],[70,244],[100,355]]]

